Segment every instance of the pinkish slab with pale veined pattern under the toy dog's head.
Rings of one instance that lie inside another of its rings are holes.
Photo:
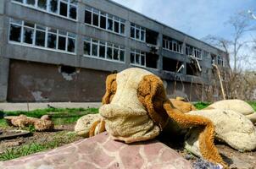
[[[54,150],[0,162],[6,169],[188,169],[192,168],[175,150],[157,140],[125,144],[98,134]]]

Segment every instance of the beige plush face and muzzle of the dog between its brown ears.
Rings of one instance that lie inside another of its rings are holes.
[[[153,139],[160,128],[148,116],[137,98],[137,89],[145,75],[152,73],[141,68],[129,68],[117,74],[117,90],[111,101],[100,107],[106,130],[118,140],[131,143]]]

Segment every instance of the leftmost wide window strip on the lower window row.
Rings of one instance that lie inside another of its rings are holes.
[[[21,35],[21,32],[23,34]],[[75,53],[76,35],[21,20],[10,19],[9,41],[26,46]]]

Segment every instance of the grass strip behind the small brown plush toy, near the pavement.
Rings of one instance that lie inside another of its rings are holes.
[[[46,108],[38,109],[30,112],[15,111],[15,112],[4,112],[7,116],[19,116],[24,114],[27,117],[40,118],[43,115],[51,115],[53,123],[55,125],[75,123],[80,117],[86,114],[97,113],[97,108]],[[6,128],[7,123],[4,119],[0,119],[0,128]]]

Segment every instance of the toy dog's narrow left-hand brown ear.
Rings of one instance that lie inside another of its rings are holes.
[[[116,92],[116,74],[110,74],[106,79],[106,93],[103,96],[103,105],[109,104]]]

